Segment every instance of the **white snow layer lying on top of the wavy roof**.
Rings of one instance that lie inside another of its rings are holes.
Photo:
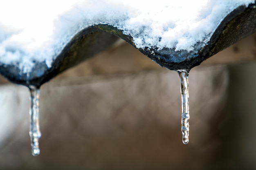
[[[0,2],[0,63],[28,73],[52,61],[76,33],[110,24],[133,37],[137,48],[193,51],[220,22],[254,0],[8,0]],[[161,41],[159,41],[161,40]]]

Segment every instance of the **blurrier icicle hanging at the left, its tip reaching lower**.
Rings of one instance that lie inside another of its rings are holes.
[[[32,155],[38,156],[40,154],[39,138],[41,132],[39,128],[39,95],[40,90],[36,86],[29,86],[31,107],[29,110],[30,115],[30,129],[29,136],[31,139]]]

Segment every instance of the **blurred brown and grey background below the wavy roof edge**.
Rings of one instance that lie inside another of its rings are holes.
[[[41,87],[41,153],[31,155],[29,90],[0,82],[0,169],[256,169],[256,34],[180,79],[119,40]]]

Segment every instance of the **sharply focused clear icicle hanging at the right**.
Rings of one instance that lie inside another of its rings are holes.
[[[177,70],[180,75],[180,93],[182,97],[181,131],[183,144],[189,143],[189,71]]]

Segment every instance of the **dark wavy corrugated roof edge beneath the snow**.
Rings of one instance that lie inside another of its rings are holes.
[[[249,7],[240,6],[227,15],[204,47],[201,48],[201,44],[198,44],[198,47],[195,46],[196,52],[175,51],[175,49],[166,48],[157,50],[155,47],[139,49],[139,51],[168,69],[185,68],[189,70],[254,32],[256,32],[256,2]],[[44,62],[35,63],[36,67],[33,68],[33,71],[25,74],[20,73],[17,66],[0,63],[0,73],[11,82],[39,87],[62,71],[107,49],[118,37],[136,48],[132,37],[124,35],[122,30],[106,24],[94,25],[76,34],[56,57],[51,68],[48,68]]]

